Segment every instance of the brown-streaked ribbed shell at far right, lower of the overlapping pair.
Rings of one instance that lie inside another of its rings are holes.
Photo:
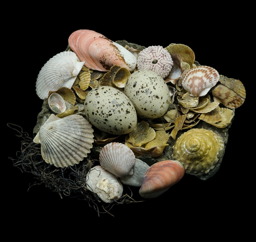
[[[212,96],[215,102],[220,102],[227,108],[238,108],[245,100],[223,84],[218,84],[212,90]]]

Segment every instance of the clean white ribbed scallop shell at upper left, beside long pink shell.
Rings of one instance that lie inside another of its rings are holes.
[[[74,52],[61,52],[46,62],[38,74],[36,94],[39,98],[48,97],[49,91],[56,91],[61,87],[71,89],[84,62],[78,62]]]

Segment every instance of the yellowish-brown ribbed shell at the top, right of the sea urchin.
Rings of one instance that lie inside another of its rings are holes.
[[[169,53],[175,52],[180,55],[183,62],[189,65],[189,68],[195,67],[195,53],[193,50],[185,44],[170,44],[165,48]],[[186,69],[186,68],[185,68]]]

